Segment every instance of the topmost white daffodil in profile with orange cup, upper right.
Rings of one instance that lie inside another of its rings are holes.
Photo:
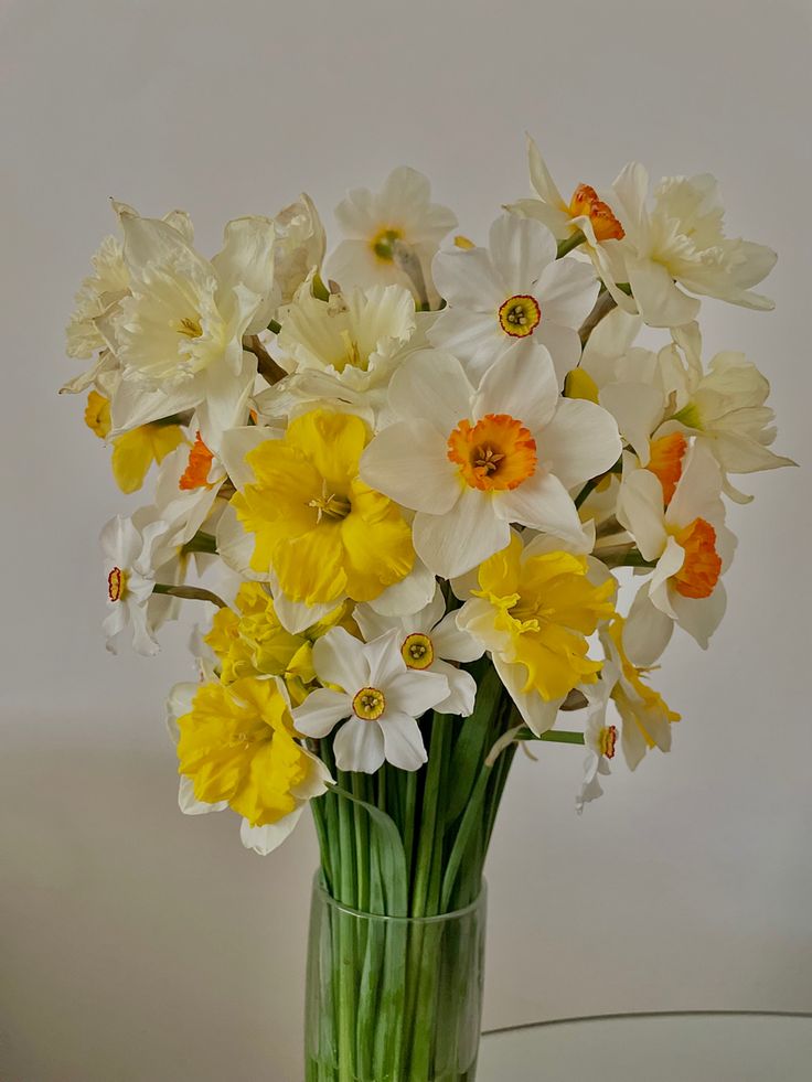
[[[584,234],[581,250],[592,260],[596,271],[611,290],[616,300],[628,301],[616,282],[623,280],[623,257],[618,242],[624,231],[609,205],[610,195],[599,195],[589,184],[578,184],[567,202],[553,180],[536,143],[527,137],[530,180],[537,199],[517,200],[507,207],[514,214],[535,218],[551,231],[556,240],[567,240]]]

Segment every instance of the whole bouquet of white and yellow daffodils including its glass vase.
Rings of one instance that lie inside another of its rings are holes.
[[[203,621],[181,810],[259,854],[313,817],[308,1082],[473,1080],[516,749],[584,746],[547,752],[578,811],[618,747],[670,750],[649,672],[723,617],[731,476],[792,464],[755,364],[702,357],[699,298],[770,309],[776,259],[725,236],[713,178],[650,200],[632,163],[567,200],[528,150],[485,245],[407,168],[340,204],[330,256],[307,195],[211,259],[183,212],[114,203],[67,329],[118,485],[157,467],[101,534],[108,647]]]

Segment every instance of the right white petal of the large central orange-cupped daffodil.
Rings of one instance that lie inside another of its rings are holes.
[[[622,444],[610,413],[580,398],[563,398],[537,436],[538,458],[566,489],[610,470]]]

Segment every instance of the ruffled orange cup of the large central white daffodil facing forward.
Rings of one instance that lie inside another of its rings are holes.
[[[448,457],[471,489],[515,489],[536,469],[536,441],[507,414],[485,414],[471,425],[461,420],[448,437]]]

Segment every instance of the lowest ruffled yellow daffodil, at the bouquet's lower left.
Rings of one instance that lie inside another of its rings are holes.
[[[282,685],[243,677],[203,684],[177,719],[178,772],[205,804],[225,802],[250,827],[298,816],[327,789],[323,764],[297,739]]]

